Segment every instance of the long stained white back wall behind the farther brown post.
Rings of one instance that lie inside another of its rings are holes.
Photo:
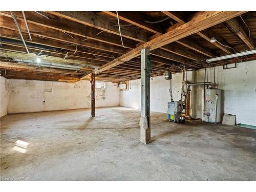
[[[8,79],[8,113],[27,113],[90,108],[90,81],[75,83]],[[96,89],[95,106],[119,105],[119,89],[106,82],[106,89]]]

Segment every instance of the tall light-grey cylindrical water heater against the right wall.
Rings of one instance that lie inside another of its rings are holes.
[[[206,89],[202,91],[202,121],[221,122],[221,90]]]

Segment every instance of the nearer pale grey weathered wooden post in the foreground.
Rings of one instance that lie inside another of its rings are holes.
[[[150,50],[141,50],[141,117],[140,117],[140,141],[144,144],[150,142]]]

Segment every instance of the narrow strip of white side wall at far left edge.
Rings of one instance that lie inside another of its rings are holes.
[[[7,79],[5,77],[0,77],[0,117],[7,115],[8,112],[8,84]]]

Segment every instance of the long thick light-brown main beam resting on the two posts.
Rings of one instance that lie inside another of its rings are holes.
[[[157,49],[159,47],[165,46],[170,42],[174,42],[191,34],[197,33],[211,26],[217,25],[219,23],[225,22],[226,20],[236,17],[240,14],[245,13],[245,11],[209,11],[200,12],[195,17],[193,17],[189,22],[183,24],[182,26],[175,28],[145,44],[133,49],[132,51],[114,59],[113,61],[101,66],[94,73],[100,73],[108,70],[112,67],[119,65],[127,60],[137,57],[140,54],[140,50],[143,48],[148,48],[150,50]]]

